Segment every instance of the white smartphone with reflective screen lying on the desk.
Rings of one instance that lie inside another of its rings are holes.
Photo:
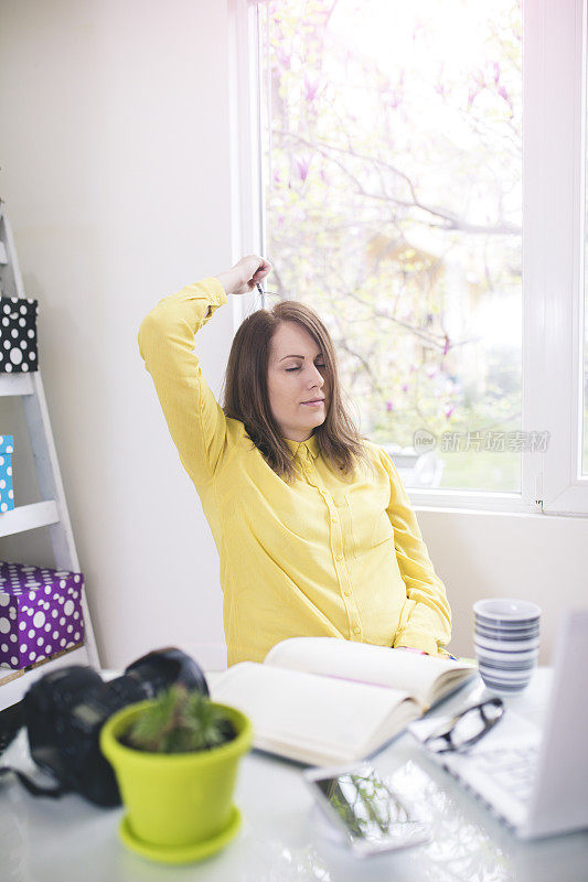
[[[368,764],[303,773],[328,819],[357,857],[430,842],[430,825],[409,809]]]

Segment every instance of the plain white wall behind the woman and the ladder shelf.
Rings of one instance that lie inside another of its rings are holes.
[[[142,316],[232,261],[226,0],[3,0],[0,195],[26,294],[104,664],[175,644],[224,659],[218,561],[137,347]],[[229,306],[199,335],[218,392]],[[17,504],[38,492],[19,409]],[[419,523],[471,654],[471,604],[532,598],[547,660],[557,613],[586,605],[588,520],[423,512]],[[51,566],[43,530],[0,556]]]

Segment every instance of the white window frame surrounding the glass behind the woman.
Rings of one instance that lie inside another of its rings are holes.
[[[264,254],[258,4],[228,0],[232,254]],[[407,487],[417,508],[588,516],[581,476],[587,0],[523,0],[522,492]],[[544,170],[558,170],[545,174]],[[550,218],[550,220],[549,220]],[[235,330],[258,295],[235,298]]]

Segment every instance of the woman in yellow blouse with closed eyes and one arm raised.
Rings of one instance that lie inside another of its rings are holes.
[[[389,456],[355,430],[319,316],[296,301],[238,329],[216,402],[194,334],[270,271],[261,257],[182,288],[139,349],[221,558],[227,663],[333,636],[447,655],[450,610]]]

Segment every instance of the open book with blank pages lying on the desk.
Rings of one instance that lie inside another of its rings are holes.
[[[339,637],[290,637],[263,664],[233,665],[211,693],[249,717],[255,747],[333,765],[365,759],[477,670]]]

